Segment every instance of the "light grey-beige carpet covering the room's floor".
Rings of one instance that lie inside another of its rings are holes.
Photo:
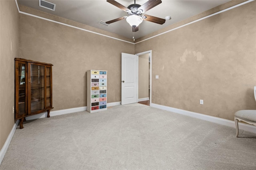
[[[24,122],[1,170],[256,169],[256,134],[138,103]]]

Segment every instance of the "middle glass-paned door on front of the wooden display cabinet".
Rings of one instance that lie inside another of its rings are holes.
[[[30,113],[44,109],[44,66],[30,64]]]

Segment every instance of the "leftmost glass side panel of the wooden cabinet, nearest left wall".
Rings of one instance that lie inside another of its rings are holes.
[[[18,112],[16,117],[22,117],[26,113],[26,64],[18,63]]]

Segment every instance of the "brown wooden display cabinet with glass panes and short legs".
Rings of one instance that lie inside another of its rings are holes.
[[[52,64],[15,58],[15,120],[23,128],[25,117],[52,107]]]

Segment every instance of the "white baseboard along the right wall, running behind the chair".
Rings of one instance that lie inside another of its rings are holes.
[[[230,121],[230,120],[227,120],[227,119],[222,119],[222,118],[218,118],[218,117],[203,115],[203,114],[196,113],[196,112],[186,111],[186,110],[177,109],[177,108],[168,107],[168,106],[163,106],[163,105],[158,105],[158,104],[154,104],[154,103],[151,103],[150,106],[158,108],[158,109],[163,109],[163,110],[166,110],[166,111],[171,111],[171,112],[174,112],[174,113],[179,113],[181,115],[195,117],[195,118],[202,119],[202,120],[205,120],[205,121],[218,123],[220,125],[225,125],[225,126],[228,126],[228,127],[233,127],[233,128],[236,127],[234,121]],[[256,126],[246,125],[244,123],[239,123],[239,129],[256,133]]]

